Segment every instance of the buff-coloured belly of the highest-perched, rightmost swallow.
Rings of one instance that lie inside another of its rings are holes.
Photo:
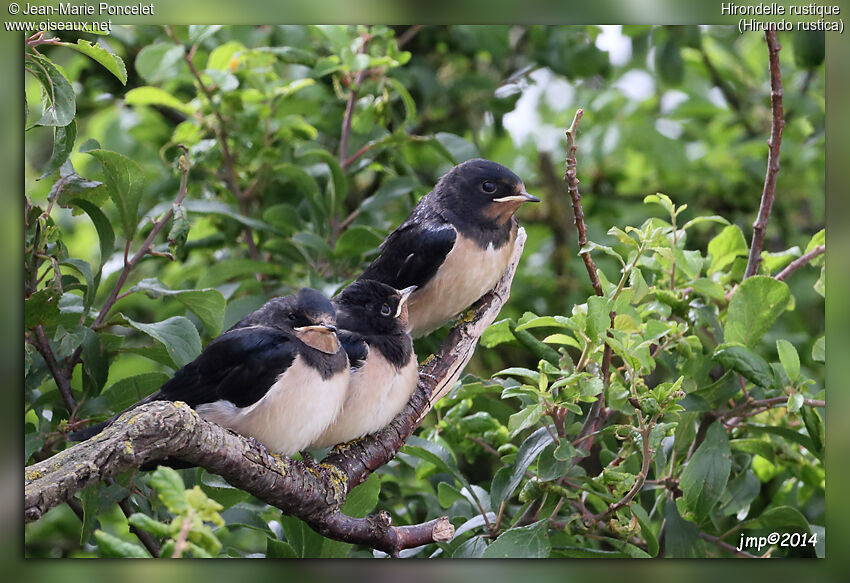
[[[516,237],[500,249],[482,250],[458,233],[454,247],[437,274],[408,300],[409,328],[414,338],[436,330],[493,289],[511,258]]]

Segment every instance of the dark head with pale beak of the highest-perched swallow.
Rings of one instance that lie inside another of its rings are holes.
[[[525,192],[519,176],[501,164],[475,158],[458,164],[434,187],[441,205],[462,220],[498,228],[525,202],[540,202]]]

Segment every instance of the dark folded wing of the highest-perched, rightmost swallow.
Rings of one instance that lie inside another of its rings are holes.
[[[451,225],[405,223],[390,233],[381,254],[358,279],[373,279],[396,289],[422,287],[437,273],[456,239]]]

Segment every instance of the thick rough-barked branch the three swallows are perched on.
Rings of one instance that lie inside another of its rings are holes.
[[[352,518],[340,512],[348,492],[390,461],[441,396],[460,378],[484,330],[496,319],[525,245],[520,229],[511,261],[493,291],[458,322],[420,369],[416,392],[387,427],[334,448],[313,466],[269,453],[261,444],[201,419],[185,403],[156,401],[128,411],[91,439],[26,468],[24,516],[38,520],[95,482],[166,458],[219,474],[233,486],[297,516],[320,534],[397,555],[454,536],[448,518],[392,526],[389,514]]]

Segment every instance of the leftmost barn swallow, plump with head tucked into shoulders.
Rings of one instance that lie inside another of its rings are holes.
[[[350,370],[336,330],[333,304],[319,292],[304,288],[275,298],[133,407],[184,401],[204,419],[292,455],[342,409]],[[87,439],[111,421],[71,438]]]

